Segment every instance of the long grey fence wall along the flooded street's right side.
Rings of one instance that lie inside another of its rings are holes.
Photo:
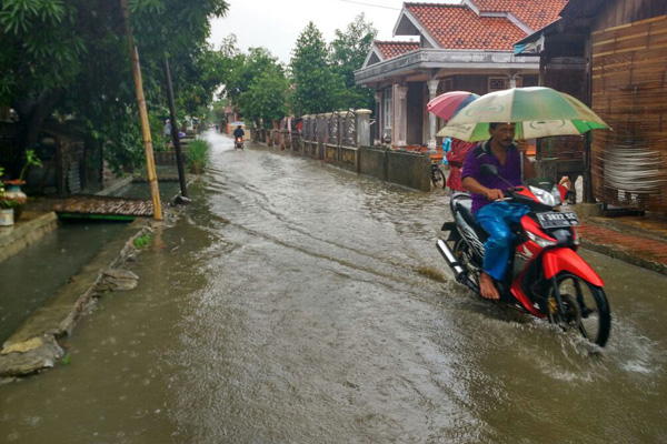
[[[370,145],[370,111],[303,115],[301,131],[252,130],[252,141],[323,160],[359,174],[430,191],[430,157]]]

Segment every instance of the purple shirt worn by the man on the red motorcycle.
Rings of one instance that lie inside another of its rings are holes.
[[[505,164],[501,165],[498,158],[491,152],[489,140],[480,142],[468,152],[466,160],[464,161],[464,169],[461,171],[461,180],[466,178],[472,178],[480,184],[488,189],[507,190],[509,185],[499,178],[492,175],[481,175],[479,167],[489,163],[498,167],[498,174],[505,178],[509,183],[515,186],[521,184],[521,158],[519,150],[515,145],[507,150],[505,158]],[[489,201],[481,194],[470,194],[472,198],[472,214],[477,214],[480,208],[488,205],[492,201]]]

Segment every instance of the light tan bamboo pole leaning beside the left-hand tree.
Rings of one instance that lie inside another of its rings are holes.
[[[137,91],[137,103],[139,105],[139,117],[141,119],[141,133],[143,135],[143,150],[146,151],[146,169],[148,172],[148,184],[150,186],[150,199],[153,203],[153,219],[162,220],[162,204],[160,203],[160,189],[158,186],[158,175],[156,174],[156,160],[152,153],[152,138],[150,135],[150,124],[148,122],[148,111],[146,110],[146,98],[143,97],[143,81],[141,80],[141,65],[139,64],[139,51],[132,39],[130,31],[130,12],[128,10],[128,0],[120,0],[122,8],[122,19],[126,27],[126,34],[130,43],[130,59],[132,61],[132,74],[135,75],[135,89]]]

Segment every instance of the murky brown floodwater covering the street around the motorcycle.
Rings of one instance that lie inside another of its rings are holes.
[[[207,137],[139,286],[0,386],[0,442],[667,442],[664,276],[584,252],[614,315],[590,355],[450,281],[440,191]]]

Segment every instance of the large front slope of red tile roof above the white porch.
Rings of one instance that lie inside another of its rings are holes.
[[[466,6],[405,3],[445,49],[511,51],[526,37],[506,18],[479,17]]]

